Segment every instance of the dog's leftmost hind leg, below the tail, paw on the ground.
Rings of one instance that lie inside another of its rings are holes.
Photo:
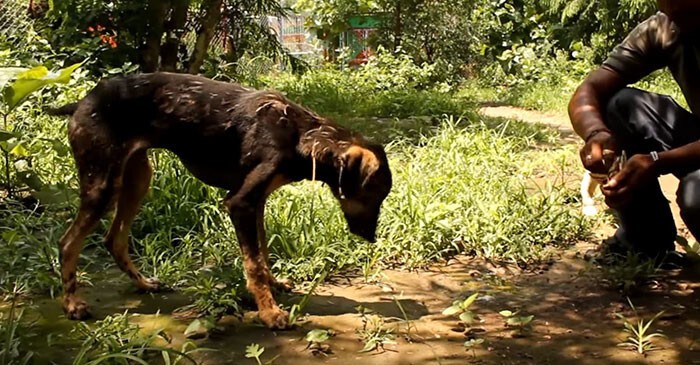
[[[76,293],[76,267],[85,237],[94,229],[99,219],[109,210],[114,195],[113,169],[101,168],[81,176],[80,208],[78,214],[59,242],[61,280],[63,282],[63,310],[69,319],[85,319],[90,316],[88,306]]]

